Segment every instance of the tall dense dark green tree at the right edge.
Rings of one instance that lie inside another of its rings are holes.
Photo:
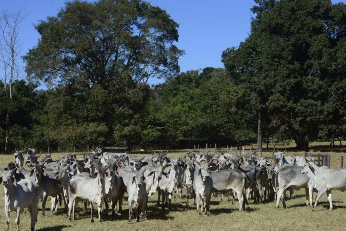
[[[344,64],[333,53],[342,53],[345,5],[338,4],[339,20],[333,20],[329,0],[255,2],[251,34],[237,49],[224,51],[223,62],[257,94],[258,118],[264,116],[269,130],[308,150],[329,121],[325,105],[335,81],[340,84],[344,76],[339,71]],[[336,92],[343,94],[341,89]]]

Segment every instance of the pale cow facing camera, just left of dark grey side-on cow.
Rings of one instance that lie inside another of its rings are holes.
[[[210,198],[212,194],[213,179],[210,177],[208,169],[211,165],[209,163],[200,163],[196,161],[195,171],[193,176],[193,190],[196,194],[196,205],[198,215],[201,216],[203,209],[204,214],[208,215],[210,209]],[[212,166],[215,168],[215,166]]]

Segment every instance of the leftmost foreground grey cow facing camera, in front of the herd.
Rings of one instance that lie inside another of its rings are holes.
[[[38,185],[31,180],[21,180],[16,182],[13,175],[18,168],[12,170],[0,169],[3,176],[0,177],[0,183],[4,184],[5,192],[5,215],[6,215],[6,230],[10,228],[10,212],[16,211],[17,217],[15,223],[17,224],[17,231],[19,231],[19,223],[21,220],[21,213],[25,208],[28,208],[31,218],[31,230],[35,229],[37,221],[37,204],[38,204]]]

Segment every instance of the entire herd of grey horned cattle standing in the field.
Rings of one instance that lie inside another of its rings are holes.
[[[83,158],[66,154],[53,161],[50,155],[38,160],[35,149],[25,147],[14,153],[14,162],[0,169],[0,183],[5,191],[5,215],[7,229],[10,211],[16,211],[15,219],[19,230],[21,213],[29,211],[31,230],[34,230],[38,214],[38,202],[42,199],[42,215],[45,215],[47,198],[51,197],[51,211],[57,211],[62,202],[67,209],[70,221],[75,219],[78,202],[84,204],[86,213],[89,204],[91,222],[94,221],[94,206],[97,206],[98,221],[105,204],[108,216],[111,202],[112,216],[122,212],[125,192],[128,195],[129,222],[132,214],[139,221],[145,217],[148,198],[158,192],[157,205],[171,209],[172,196],[182,198],[186,188],[186,206],[193,200],[199,215],[207,215],[212,195],[238,198],[239,211],[245,209],[247,199],[260,203],[274,199],[276,207],[280,200],[286,207],[285,192],[306,189],[306,203],[313,208],[321,195],[326,192],[332,205],[332,189],[346,189],[346,168],[329,169],[317,166],[312,157],[284,156],[285,151],[273,152],[275,165],[270,158],[256,157],[256,152],[247,156],[209,155],[208,152],[189,151],[180,158],[167,157],[168,152],[153,152],[151,156],[138,158],[126,153],[103,152],[102,148],[85,153]],[[24,167],[25,166],[25,167]],[[312,203],[313,191],[317,191],[315,204]],[[310,201],[309,201],[310,200]],[[134,206],[132,208],[132,206]]]

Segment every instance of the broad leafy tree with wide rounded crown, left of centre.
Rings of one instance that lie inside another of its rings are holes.
[[[67,2],[36,25],[41,38],[24,60],[32,79],[56,87],[49,134],[85,145],[138,140],[148,79],[179,72],[177,27],[141,0]]]

